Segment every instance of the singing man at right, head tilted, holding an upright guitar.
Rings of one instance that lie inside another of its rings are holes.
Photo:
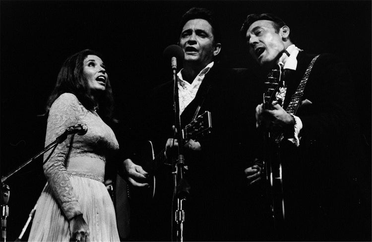
[[[284,81],[271,107],[256,107],[258,129],[284,134],[279,157],[285,221],[274,239],[366,240],[371,236],[366,226],[371,214],[361,215],[365,204],[359,191],[365,181],[363,168],[368,166],[358,151],[353,85],[347,66],[330,54],[307,54],[292,42],[283,20],[272,14],[249,14],[241,33],[259,65],[262,81],[278,63],[284,69]],[[310,73],[308,78],[305,72]],[[291,105],[297,105],[294,96],[301,100],[293,112]],[[260,165],[246,169],[248,182],[262,182],[261,172]]]

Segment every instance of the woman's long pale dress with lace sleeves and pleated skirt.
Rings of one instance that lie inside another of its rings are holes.
[[[29,241],[68,242],[68,220],[79,214],[91,241],[119,241],[114,205],[103,183],[106,159],[119,149],[112,129],[75,95],[63,93],[50,109],[45,144],[79,122],[86,123],[88,132],[69,135],[43,166],[48,182],[37,202]]]

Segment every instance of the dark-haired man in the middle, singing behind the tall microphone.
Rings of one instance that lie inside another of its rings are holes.
[[[212,116],[210,134],[198,140],[188,139],[183,144],[187,165],[185,178],[191,188],[184,207],[184,236],[186,241],[228,241],[238,236],[235,224],[242,213],[237,209],[239,202],[235,197],[243,192],[238,192],[240,186],[236,186],[235,181],[240,179],[243,184],[246,179],[244,165],[237,165],[238,161],[232,156],[239,145],[237,137],[241,135],[236,132],[239,129],[237,123],[243,123],[243,119],[248,121],[239,115],[237,94],[243,83],[242,70],[226,68],[219,63],[222,45],[219,27],[211,11],[189,9],[182,17],[179,36],[178,45],[185,54],[183,68],[177,74],[182,126],[205,111]],[[149,123],[145,126],[151,127],[154,134],[155,150],[166,144],[165,154],[171,159],[174,150],[171,129],[174,125],[173,81],[157,87],[150,104],[150,115],[146,119]],[[253,112],[250,118],[254,128]],[[177,141],[175,144],[178,145]],[[145,178],[146,172],[142,167],[130,160],[125,161],[125,167],[132,185],[144,184],[141,179]],[[162,170],[157,179],[160,192],[155,194],[151,209],[156,229],[148,240],[169,241],[174,212],[170,209],[173,181],[170,172],[165,172],[166,165],[159,170]]]

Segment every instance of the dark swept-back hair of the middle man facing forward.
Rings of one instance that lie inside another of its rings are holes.
[[[182,29],[184,28],[185,24],[187,21],[192,20],[192,19],[204,19],[208,21],[210,26],[212,26],[212,34],[213,34],[213,39],[214,43],[220,43],[220,28],[217,23],[216,18],[214,17],[214,13],[206,8],[201,8],[201,7],[192,7],[190,8],[183,16],[181,19],[180,23],[180,34],[182,32]]]

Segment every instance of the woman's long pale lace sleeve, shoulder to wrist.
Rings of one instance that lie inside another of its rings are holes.
[[[56,140],[64,130],[79,121],[79,113],[82,111],[81,104],[75,95],[63,93],[52,105],[47,124],[45,145]],[[67,219],[82,214],[69,177],[64,167],[68,153],[71,136],[58,145],[50,159],[44,164],[44,174],[53,190],[54,196]],[[50,151],[44,154],[46,159]]]

